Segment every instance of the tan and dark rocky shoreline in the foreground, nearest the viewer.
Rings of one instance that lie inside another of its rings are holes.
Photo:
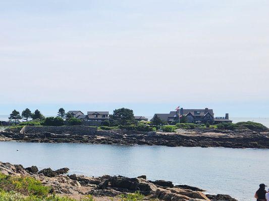
[[[139,191],[144,200],[157,199],[165,201],[237,201],[229,195],[205,194],[204,190],[188,185],[174,185],[171,181],[147,180],[145,175],[136,178],[103,175],[87,177],[83,175],[66,175],[68,168],[53,171],[50,168],[38,170],[36,166],[24,168],[0,162],[0,172],[12,176],[29,176],[50,186],[50,193],[79,199],[84,195],[93,195],[96,200],[120,200],[119,195]]]

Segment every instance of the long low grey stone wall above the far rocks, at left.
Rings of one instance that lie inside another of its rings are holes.
[[[20,131],[21,134],[37,134],[49,132],[55,134],[92,135],[97,131],[97,127],[89,126],[25,126]]]

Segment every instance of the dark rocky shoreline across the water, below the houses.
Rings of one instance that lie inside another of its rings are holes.
[[[98,130],[94,134],[85,135],[71,132],[21,133],[2,131],[0,132],[0,141],[268,149],[269,131],[180,129],[176,133],[165,133],[117,129],[111,131]]]

